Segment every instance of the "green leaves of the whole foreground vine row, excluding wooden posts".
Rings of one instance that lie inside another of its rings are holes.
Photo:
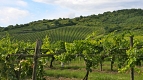
[[[87,70],[84,79],[87,79],[92,68],[96,68],[104,58],[110,59],[112,64],[117,61],[119,72],[140,65],[141,60],[143,60],[143,42],[135,39],[133,48],[130,48],[126,35],[132,34],[129,32],[117,34],[115,31],[106,36],[96,37],[96,34],[93,33],[85,40],[75,40],[72,43],[57,41],[54,44],[51,44],[49,37],[46,36],[41,48],[47,49],[43,53],[53,54],[54,58],[61,62],[71,61],[77,57],[83,58]],[[34,44],[11,40],[8,34],[0,39],[0,77],[2,79],[28,79],[31,77],[32,59],[11,55],[32,54],[34,51],[26,51],[26,49],[33,48]],[[46,60],[48,58],[40,58],[38,61],[37,79],[42,79],[44,76]],[[141,71],[138,70],[138,72]]]

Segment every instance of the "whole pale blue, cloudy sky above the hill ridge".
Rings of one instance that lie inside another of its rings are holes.
[[[143,0],[0,0],[0,26],[143,9]]]

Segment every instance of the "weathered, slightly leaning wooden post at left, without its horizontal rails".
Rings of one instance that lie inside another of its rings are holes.
[[[32,80],[36,80],[36,70],[37,70],[37,64],[38,64],[38,54],[40,54],[42,42],[40,40],[37,40],[36,47],[35,47],[35,53],[33,56],[33,73],[32,73]]]

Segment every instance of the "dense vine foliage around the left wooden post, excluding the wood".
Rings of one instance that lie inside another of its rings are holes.
[[[33,59],[14,54],[33,54],[33,51],[26,51],[27,48],[34,48],[30,42],[11,40],[9,35],[0,39],[0,77],[3,80],[29,79],[33,72]],[[44,75],[43,62],[39,59],[37,79]]]

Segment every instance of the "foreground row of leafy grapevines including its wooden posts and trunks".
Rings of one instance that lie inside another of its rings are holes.
[[[95,68],[99,67],[103,71],[106,62],[110,62],[111,72],[114,71],[115,63],[119,73],[131,70],[130,78],[134,80],[136,71],[142,74],[143,42],[134,39],[129,32],[115,33],[116,31],[100,38],[92,34],[84,40],[74,40],[71,43],[57,41],[54,44],[51,44],[48,36],[42,43],[39,40],[33,43],[11,40],[7,34],[0,40],[0,78],[46,80],[47,64],[51,71],[56,66],[54,62],[61,62],[64,69],[64,63],[70,64],[80,59],[85,69],[85,72],[81,72],[85,73],[83,80],[88,80]]]

